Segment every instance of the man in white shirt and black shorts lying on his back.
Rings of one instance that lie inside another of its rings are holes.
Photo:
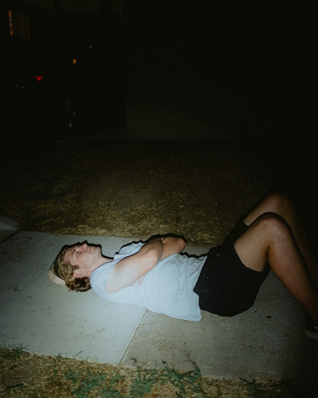
[[[307,311],[306,335],[318,339],[318,262],[288,197],[267,195],[207,256],[181,255],[185,246],[182,238],[156,237],[124,246],[114,259],[98,246],[67,246],[50,275],[70,290],[92,288],[106,300],[199,321],[200,310],[248,310],[272,269]]]

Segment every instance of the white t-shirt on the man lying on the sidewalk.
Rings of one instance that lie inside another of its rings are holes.
[[[139,252],[143,243],[124,246],[114,259],[95,269],[90,276],[91,287],[106,300],[146,307],[185,320],[200,321],[199,296],[193,288],[198,280],[206,256],[195,258],[173,254],[149,271],[142,283],[108,293],[106,283],[112,267],[121,259]]]

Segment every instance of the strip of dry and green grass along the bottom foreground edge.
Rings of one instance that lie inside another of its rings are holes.
[[[25,347],[0,349],[0,396],[59,398],[316,398],[287,376],[281,380],[220,380],[202,377],[200,369],[141,369],[90,363],[87,359],[21,355]]]

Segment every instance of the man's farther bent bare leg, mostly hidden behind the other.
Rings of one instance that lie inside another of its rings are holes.
[[[250,225],[254,220],[260,217],[260,215],[267,212],[280,215],[291,227],[297,246],[299,247],[302,256],[304,256],[304,261],[309,269],[310,275],[312,276],[312,280],[318,289],[318,261],[310,249],[310,244],[304,232],[304,228],[301,225],[301,221],[297,216],[293,203],[287,196],[280,193],[268,195],[245,217],[244,223],[246,225]]]

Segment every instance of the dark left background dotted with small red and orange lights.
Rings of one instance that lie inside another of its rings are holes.
[[[45,141],[122,129],[123,29],[111,5],[104,2],[99,12],[64,13],[61,7],[52,11],[28,2],[6,3],[1,14],[2,100],[9,142],[12,133]],[[29,21],[29,37],[21,37],[21,15]]]

